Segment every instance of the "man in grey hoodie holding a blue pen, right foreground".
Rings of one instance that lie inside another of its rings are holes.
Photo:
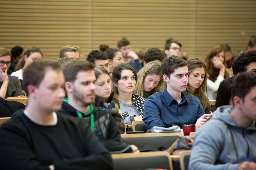
[[[189,170],[256,169],[256,75],[238,74],[231,91],[233,105],[218,107],[196,132]]]

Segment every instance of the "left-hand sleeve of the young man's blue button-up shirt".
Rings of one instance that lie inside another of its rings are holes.
[[[155,97],[148,97],[144,104],[143,121],[146,124],[147,129],[151,129],[154,126],[166,127],[161,120],[159,109],[159,103]]]

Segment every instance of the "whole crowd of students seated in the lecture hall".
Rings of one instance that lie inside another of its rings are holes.
[[[126,37],[117,46],[100,44],[82,61],[76,60],[80,47],[66,45],[59,64],[40,60],[43,53],[37,47],[23,52],[15,46],[12,53],[0,48],[0,97],[23,96],[23,78],[29,94],[26,109],[1,125],[0,169],[112,169],[110,153],[140,152],[121,138],[125,125],[137,120],[147,129],[195,124],[191,170],[256,168],[255,104],[250,100],[256,75],[248,73],[256,73],[255,36],[238,56],[228,44],[220,44],[204,62],[187,60],[182,44],[173,39],[164,51],[154,47],[135,53]],[[211,108],[209,100],[215,99]],[[244,161],[243,153],[251,162]]]

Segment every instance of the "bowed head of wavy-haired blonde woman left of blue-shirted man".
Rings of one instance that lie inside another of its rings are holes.
[[[160,63],[151,61],[138,72],[135,93],[141,97],[148,98],[157,91],[163,91],[164,85]]]

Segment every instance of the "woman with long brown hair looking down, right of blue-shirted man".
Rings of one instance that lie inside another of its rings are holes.
[[[199,58],[192,58],[188,63],[188,85],[187,93],[198,97],[201,101],[205,114],[210,114],[210,101],[207,98],[207,70],[205,63]]]

